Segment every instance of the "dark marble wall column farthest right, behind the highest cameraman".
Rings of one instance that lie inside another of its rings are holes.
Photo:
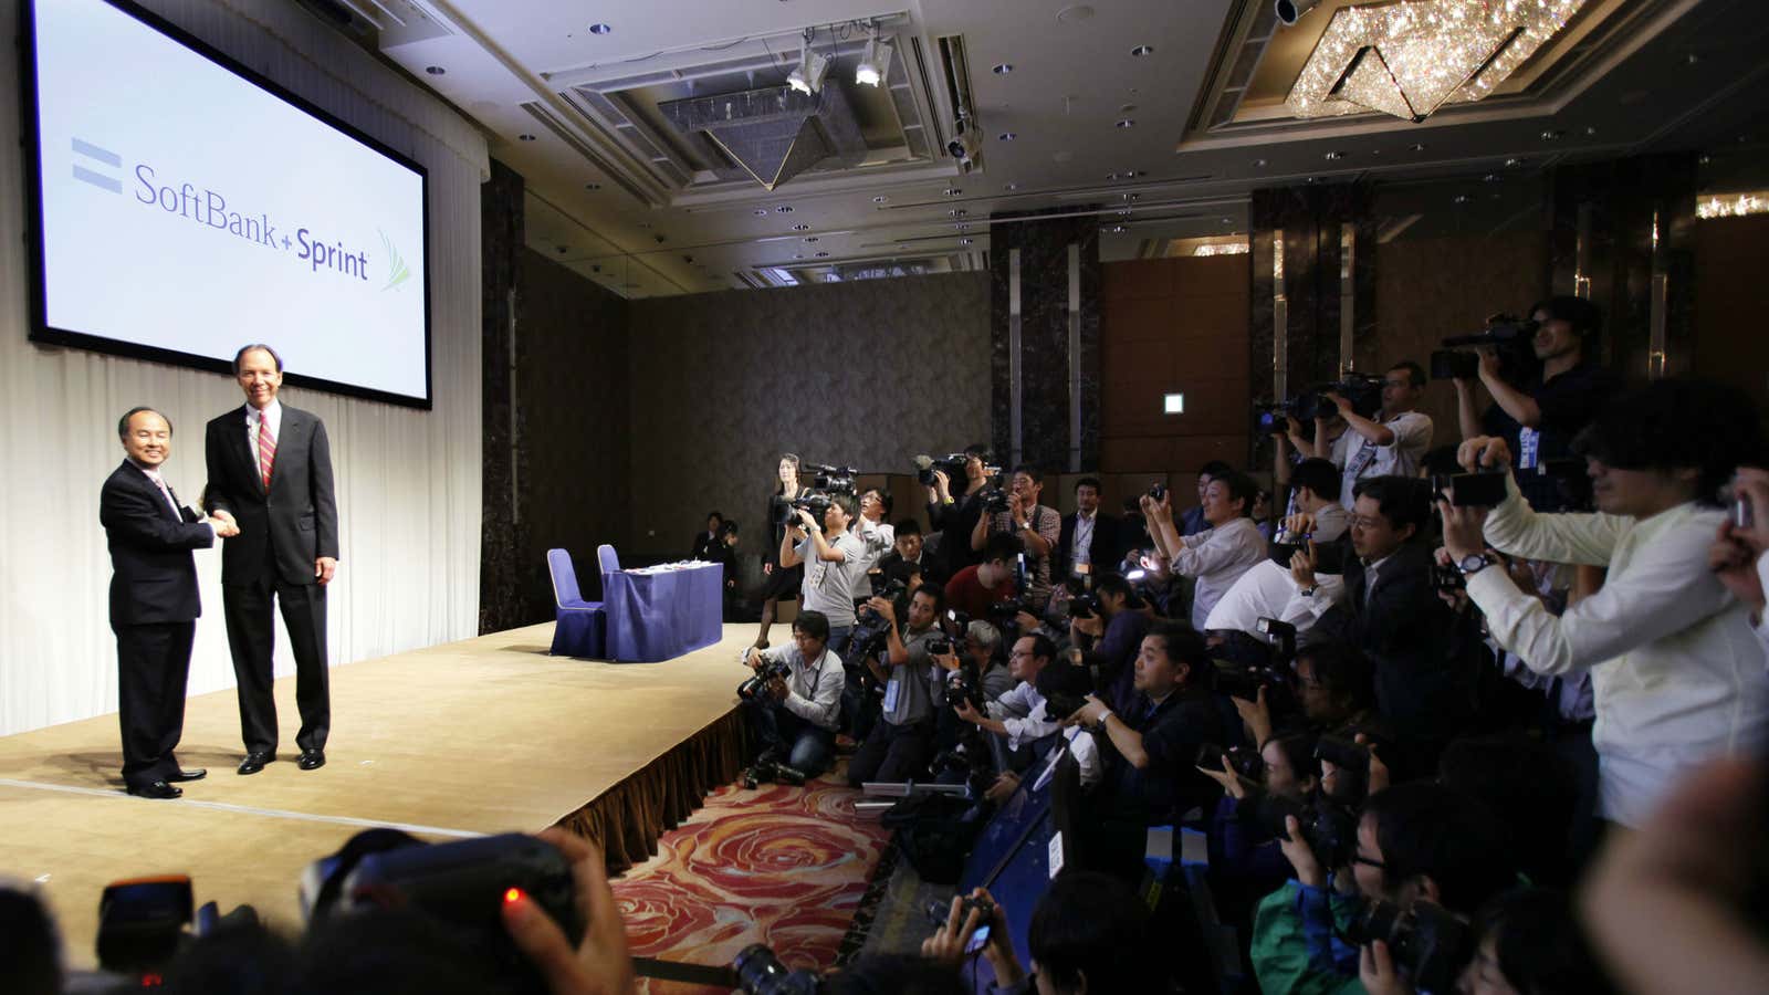
[[[1555,294],[1603,308],[1603,361],[1629,379],[1695,358],[1695,152],[1558,166],[1551,175]]]

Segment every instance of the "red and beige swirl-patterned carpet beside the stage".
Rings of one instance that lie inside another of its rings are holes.
[[[727,967],[761,942],[789,968],[846,960],[863,938],[867,885],[890,841],[877,818],[854,814],[858,797],[839,772],[803,788],[713,791],[663,834],[656,857],[612,882],[633,956]],[[640,991],[725,990],[640,979]]]

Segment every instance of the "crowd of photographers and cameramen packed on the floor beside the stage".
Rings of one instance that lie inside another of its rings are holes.
[[[1063,515],[1037,467],[973,446],[918,459],[923,535],[851,469],[784,457],[745,783],[846,752],[856,788],[962,786],[895,813],[929,880],[1058,772],[1083,804],[1033,963],[976,889],[923,958],[812,981],[747,951],[745,990],[962,991],[976,960],[1040,993],[1762,990],[1762,413],[1709,382],[1617,382],[1599,329],[1555,297],[1445,340],[1459,439],[1438,448],[1417,363],[1261,405],[1263,515],[1217,462],[1196,506],[1155,487],[1113,513],[1083,476]],[[729,559],[715,519],[695,552]],[[770,644],[782,598],[800,611]],[[1168,827],[1201,834],[1201,873],[1157,859]],[[554,843],[577,914],[502,906],[527,977],[630,990],[594,850]],[[1199,935],[1162,919],[1175,892]]]

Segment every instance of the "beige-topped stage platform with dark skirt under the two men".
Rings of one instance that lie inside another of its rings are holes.
[[[122,790],[117,715],[0,738],[0,873],[41,882],[71,967],[94,965],[97,901],[129,876],[188,873],[196,901],[299,924],[315,859],[371,825],[430,841],[568,825],[614,866],[741,767],[738,653],[755,625],[658,664],[547,655],[552,623],[333,667],[327,765],[299,770],[294,676],[276,682],[278,761],[234,774],[234,690],[191,698],[172,802]]]

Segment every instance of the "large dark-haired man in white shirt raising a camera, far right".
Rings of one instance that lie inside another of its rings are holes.
[[[1765,451],[1735,388],[1656,381],[1615,398],[1574,443],[1597,513],[1535,513],[1507,474],[1491,512],[1444,508],[1444,545],[1504,650],[1543,675],[1589,669],[1601,760],[1599,814],[1640,825],[1705,760],[1769,735],[1769,671],[1750,611],[1709,567],[1727,513],[1719,489]],[[1468,469],[1509,469],[1504,439],[1463,443]],[[1486,545],[1530,559],[1608,567],[1597,593],[1553,616]]]

